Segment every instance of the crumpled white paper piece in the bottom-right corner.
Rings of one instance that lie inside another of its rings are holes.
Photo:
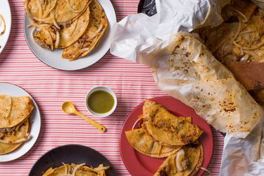
[[[244,139],[234,134],[225,136],[220,175],[264,175],[263,119]]]

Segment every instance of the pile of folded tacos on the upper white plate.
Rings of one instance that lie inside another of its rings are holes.
[[[108,25],[96,0],[26,0],[25,8],[34,41],[51,51],[63,49],[70,61],[89,54]]]

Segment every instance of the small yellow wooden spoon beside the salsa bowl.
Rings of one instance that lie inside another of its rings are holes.
[[[63,105],[61,106],[61,108],[63,109],[63,111],[65,113],[74,113],[75,115],[78,115],[80,118],[82,118],[83,120],[89,122],[91,125],[94,125],[94,127],[96,127],[98,130],[100,130],[101,132],[106,132],[106,127],[103,127],[103,125],[99,124],[98,122],[88,118],[87,116],[83,115],[82,113],[78,112],[75,109],[75,106],[73,105],[72,102],[70,101],[65,101],[63,103]]]

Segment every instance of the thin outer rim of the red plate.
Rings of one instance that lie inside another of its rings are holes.
[[[154,96],[153,98],[150,98],[150,100],[153,100],[153,101],[155,101],[156,99],[162,99],[162,98],[172,98],[172,99],[175,99],[175,97],[173,97],[173,96]],[[176,99],[176,100],[178,100],[178,101],[180,101],[179,99]],[[182,103],[182,101],[180,101],[181,103]],[[123,154],[122,154],[122,152],[121,152],[121,143],[122,143],[122,140],[121,140],[121,138],[122,138],[122,133],[123,133],[123,130],[124,130],[124,126],[125,126],[125,123],[127,122],[127,120],[128,120],[128,117],[134,112],[134,111],[136,111],[136,109],[139,107],[139,106],[141,106],[142,105],[142,103],[144,103],[144,101],[142,101],[142,102],[140,102],[137,106],[135,106],[133,109],[132,109],[132,111],[130,111],[130,113],[128,113],[128,115],[127,115],[127,118],[125,119],[125,121],[123,122],[123,124],[122,124],[122,128],[121,128],[121,130],[120,130],[120,136],[119,136],[119,149],[120,149],[120,156],[121,156],[121,159],[122,159],[122,163],[125,165],[125,163],[124,163],[124,158],[123,158]],[[182,104],[184,104],[184,103],[182,103]],[[185,106],[187,106],[186,104],[184,104]],[[189,107],[189,106],[188,106]],[[189,108],[191,108],[191,107],[189,107]],[[196,113],[196,111],[194,111],[194,113]],[[197,113],[196,113],[196,115],[197,116],[199,116],[199,118],[201,118],[200,117],[200,115],[198,115]],[[203,118],[201,118],[201,119],[203,119]],[[208,123],[207,123],[208,124]],[[208,126],[210,127],[210,136],[212,137],[212,141],[211,141],[211,144],[212,144],[212,153],[210,154],[210,161],[212,160],[212,157],[213,157],[213,150],[214,150],[214,141],[213,141],[213,131],[212,131],[212,128],[211,128],[211,126],[208,124]],[[203,149],[204,149],[204,147],[205,146],[203,146]],[[136,152],[138,152],[138,151],[136,151]],[[204,151],[203,151],[204,152]],[[203,157],[204,157],[204,155],[203,155]],[[204,158],[203,158],[204,159]],[[210,165],[210,161],[209,161],[209,163],[208,163],[208,165],[206,165],[206,168],[208,168],[208,166]],[[128,170],[128,168],[127,168],[127,165],[125,165],[125,168],[127,169],[127,171],[132,175],[132,174],[134,174],[134,172],[130,172],[130,170]],[[149,170],[146,170],[146,172],[149,172]],[[201,169],[199,169],[198,171],[197,171],[197,173],[198,172],[201,172],[201,175],[203,175],[203,172],[204,172],[204,170],[201,170]],[[151,172],[150,172],[151,173]],[[151,173],[151,175],[153,175],[153,173]]]

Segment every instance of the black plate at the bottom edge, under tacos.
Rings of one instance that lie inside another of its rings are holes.
[[[93,167],[97,167],[100,164],[103,164],[105,166],[108,165],[110,166],[110,168],[106,170],[106,175],[117,175],[113,168],[113,165],[105,156],[99,153],[99,151],[96,151],[87,146],[76,144],[58,146],[54,149],[51,149],[42,157],[40,157],[36,163],[34,163],[29,175],[42,175],[43,172],[46,172],[46,170],[48,170],[49,168],[59,167],[62,165],[62,163],[86,163],[86,165],[92,165]]]

